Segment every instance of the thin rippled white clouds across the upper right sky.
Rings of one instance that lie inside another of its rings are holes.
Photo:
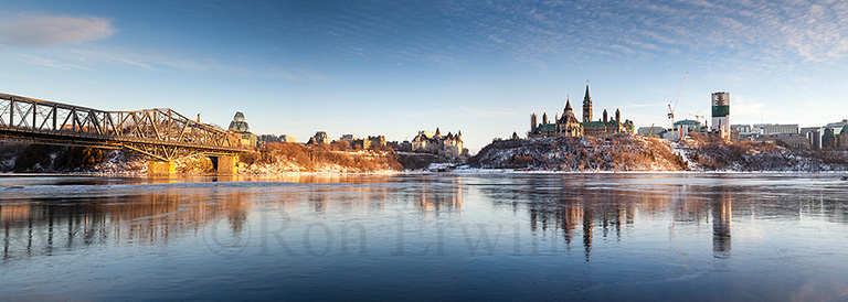
[[[797,58],[848,57],[846,1],[458,2],[446,6],[442,18],[458,28],[455,39],[467,42],[468,51],[494,51],[507,62],[540,67],[683,56],[773,69]]]

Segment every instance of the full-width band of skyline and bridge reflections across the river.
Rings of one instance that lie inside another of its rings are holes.
[[[360,209],[382,212],[386,204],[403,202],[414,205],[423,217],[458,215],[469,187],[479,190],[497,207],[507,206],[512,212],[526,208],[533,236],[544,237],[549,231],[556,234],[568,250],[575,244],[581,245],[586,261],[591,260],[595,236],[613,236],[615,240],[622,240],[623,227],[633,228],[640,219],[649,222],[670,215],[671,237],[677,236],[677,227],[710,223],[712,251],[718,258],[728,258],[731,256],[734,211],[743,211],[743,215],[754,215],[755,218],[778,216],[781,219],[797,219],[806,213],[839,223],[846,223],[848,216],[842,201],[825,202],[824,195],[817,201],[810,198],[786,205],[786,198],[793,194],[777,192],[781,190],[644,185],[634,184],[628,177],[596,182],[586,175],[510,179],[307,175],[288,180],[319,185],[280,188],[273,184],[254,186],[250,183],[240,186],[187,184],[155,186],[155,190],[124,185],[119,186],[120,194],[115,194],[115,190],[95,188],[94,193],[72,198],[55,197],[55,194],[67,193],[61,190],[43,196],[44,190],[36,186],[7,186],[4,193],[8,194],[0,203],[3,258],[52,255],[57,249],[70,250],[93,244],[167,244],[174,236],[194,236],[204,224],[220,219],[237,234],[243,230],[251,208],[258,203],[306,202],[314,213],[338,207],[342,213],[352,214]],[[505,181],[509,185],[500,183]],[[78,192],[73,186],[63,187]],[[35,197],[22,197],[30,193],[35,193]],[[748,202],[734,208],[734,195],[745,196]]]

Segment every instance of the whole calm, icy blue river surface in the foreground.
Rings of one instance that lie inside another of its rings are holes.
[[[0,176],[0,300],[848,301],[836,174]]]

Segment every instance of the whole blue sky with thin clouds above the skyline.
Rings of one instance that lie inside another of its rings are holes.
[[[257,134],[463,132],[476,152],[530,114],[848,118],[848,1],[0,1],[0,93],[172,108]]]

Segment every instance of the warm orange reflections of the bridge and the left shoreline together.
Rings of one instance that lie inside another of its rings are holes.
[[[241,236],[256,206],[286,212],[287,204],[307,203],[318,214],[369,215],[402,202],[424,216],[454,215],[462,209],[465,195],[458,177],[403,186],[382,176],[346,179],[351,182],[338,184],[312,183],[315,180],[293,179],[309,185],[7,186],[0,188],[7,193],[0,198],[3,259],[49,256],[98,244],[167,245],[172,238],[198,236],[219,222],[225,222],[232,236]]]

